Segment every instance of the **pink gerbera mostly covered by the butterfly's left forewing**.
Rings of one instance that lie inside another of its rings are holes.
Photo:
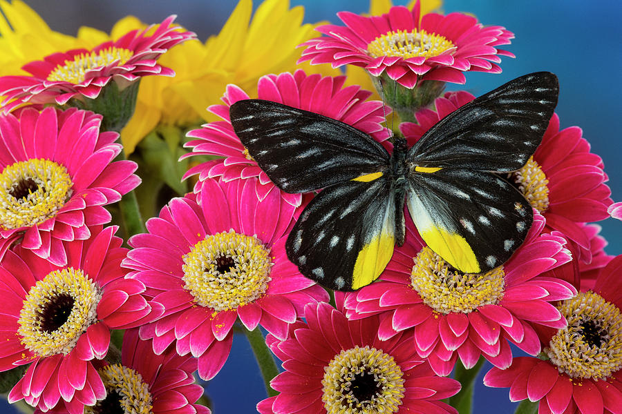
[[[379,142],[388,139],[389,132],[381,126],[381,123],[390,110],[383,108],[380,101],[365,101],[371,92],[361,90],[359,86],[343,88],[345,80],[346,77],[343,76],[306,75],[303,70],[296,70],[294,75],[291,73],[266,75],[258,81],[258,98],[337,119],[368,133]],[[185,144],[192,148],[192,152],[182,158],[194,155],[216,155],[225,158],[214,159],[190,168],[184,177],[199,174],[200,181],[214,177],[223,177],[225,181],[258,177],[257,182],[261,186],[256,189],[257,195],[263,199],[266,193],[274,188],[274,184],[249,155],[229,120],[229,106],[242,99],[249,99],[246,92],[234,85],[227,86],[223,96],[225,105],[209,107],[211,112],[224,121],[211,122],[201,129],[188,132],[188,137],[196,139]],[[195,192],[199,187],[200,184],[197,184]],[[298,206],[301,201],[301,196],[297,194],[284,193],[283,197],[294,206]]]

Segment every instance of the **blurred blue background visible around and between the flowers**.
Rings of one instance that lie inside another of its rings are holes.
[[[54,30],[75,34],[79,26],[109,31],[113,23],[134,14],[149,23],[178,14],[177,22],[194,30],[204,41],[223,26],[236,1],[147,1],[147,0],[26,0]],[[367,1],[292,0],[305,6],[305,22],[330,20],[340,10],[367,12]],[[396,3],[400,3],[397,1]],[[405,0],[402,1],[405,3]],[[255,1],[255,5],[258,2]],[[612,198],[622,201],[622,7],[617,0],[446,0],[443,10],[470,12],[484,25],[505,26],[516,34],[507,49],[517,58],[503,58],[500,75],[467,73],[466,88],[481,95],[520,75],[538,70],[556,73],[560,97],[556,112],[561,126],[581,126],[583,136],[601,155],[610,177]],[[455,86],[453,89],[458,89]],[[452,89],[452,86],[449,87]],[[622,222],[601,222],[602,235],[610,242],[607,253],[622,253]],[[622,275],[621,275],[622,276]],[[480,377],[487,371],[484,367]],[[515,404],[507,389],[487,388],[478,379],[474,413],[512,413]],[[207,385],[214,413],[253,413],[265,398],[265,389],[245,337],[236,335],[232,355],[223,371]],[[13,413],[6,402],[1,413]]]

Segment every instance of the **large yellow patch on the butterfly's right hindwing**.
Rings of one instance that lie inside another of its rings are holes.
[[[461,235],[449,233],[440,227],[428,227],[420,234],[437,255],[462,273],[481,272],[480,264],[473,249]]]

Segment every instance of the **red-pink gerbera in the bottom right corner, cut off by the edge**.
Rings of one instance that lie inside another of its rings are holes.
[[[492,368],[484,384],[509,387],[512,401],[539,401],[539,413],[619,413],[622,406],[622,256],[558,305],[568,321],[547,338],[542,358],[520,357]]]

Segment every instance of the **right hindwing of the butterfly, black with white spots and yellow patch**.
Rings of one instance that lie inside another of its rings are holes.
[[[531,206],[508,181],[466,168],[411,176],[406,204],[424,242],[464,273],[505,263],[533,221]]]

